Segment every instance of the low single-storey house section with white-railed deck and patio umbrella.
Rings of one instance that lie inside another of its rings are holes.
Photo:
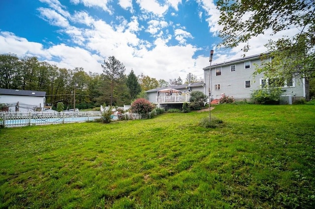
[[[191,91],[206,93],[204,82],[156,88],[148,90],[146,93],[151,103],[157,104],[157,107],[167,109],[181,108],[183,103],[189,103]]]

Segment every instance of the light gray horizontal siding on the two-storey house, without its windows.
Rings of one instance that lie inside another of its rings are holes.
[[[245,68],[245,62],[250,61],[250,68]],[[215,64],[211,67],[211,96],[212,99],[220,99],[221,94],[232,96],[237,100],[250,99],[253,90],[260,88],[260,79],[264,78],[263,74],[256,75],[253,78],[253,73],[256,66],[261,66],[263,62],[270,62],[270,59],[261,60],[259,55],[251,56],[250,58],[229,61],[227,63]],[[235,65],[235,71],[230,70],[230,66]],[[221,68],[221,75],[216,76],[216,68]],[[209,66],[204,68],[206,93],[209,89]],[[245,81],[251,81],[251,87],[245,88]],[[215,89],[215,85],[220,84],[220,90]],[[303,97],[304,88],[303,80],[295,78],[295,87],[284,87],[286,90],[283,95],[291,95],[294,97]]]

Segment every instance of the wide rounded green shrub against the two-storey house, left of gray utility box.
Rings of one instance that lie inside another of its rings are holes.
[[[279,104],[282,93],[281,87],[262,88],[252,92],[252,99],[258,104]]]

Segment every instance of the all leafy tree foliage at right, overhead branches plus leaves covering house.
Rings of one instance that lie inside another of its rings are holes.
[[[254,76],[264,74],[283,86],[292,78],[315,79],[315,1],[314,0],[218,0],[222,42],[219,46],[234,48],[266,31],[271,35],[287,31],[290,36],[269,40],[269,53],[262,58],[271,60],[257,68]],[[269,32],[270,31],[270,32]],[[310,87],[312,88],[312,87]]]

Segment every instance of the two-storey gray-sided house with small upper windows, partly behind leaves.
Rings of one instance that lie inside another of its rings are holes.
[[[212,100],[219,100],[222,94],[235,100],[249,100],[253,90],[268,83],[263,74],[253,77],[256,66],[271,62],[271,58],[261,60],[261,54],[213,64],[210,74],[210,92]],[[203,68],[206,95],[209,95],[210,66]],[[282,86],[283,98],[291,104],[292,100],[305,98],[307,95],[304,78],[292,78]]]

